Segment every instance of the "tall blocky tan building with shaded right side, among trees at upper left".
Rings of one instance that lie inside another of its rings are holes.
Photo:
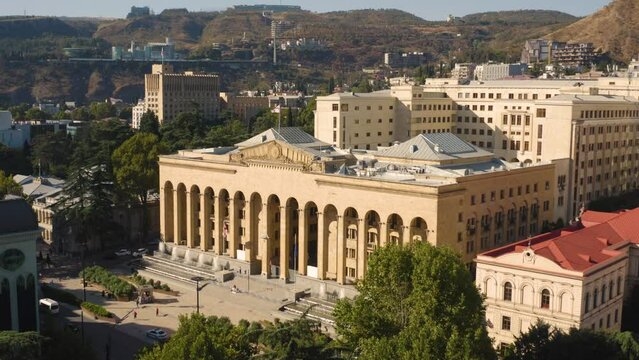
[[[173,66],[154,64],[144,76],[145,111],[153,111],[160,124],[180,113],[198,111],[204,119],[215,119],[219,112],[219,78],[193,72],[176,74]]]

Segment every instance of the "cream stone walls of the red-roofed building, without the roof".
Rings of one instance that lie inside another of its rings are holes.
[[[488,332],[495,346],[512,343],[538,319],[564,331],[571,327],[620,329],[624,289],[622,286],[617,291],[617,278],[625,277],[627,257],[615,258],[581,273],[563,269],[532,253],[531,257],[526,257],[524,252],[477,259],[476,285],[486,296]],[[611,281],[612,298],[609,296]],[[510,299],[506,295],[507,284],[512,286]],[[599,297],[597,307],[593,308],[595,288]],[[549,293],[547,308],[542,306],[544,290]],[[606,291],[604,303],[601,302],[602,290]],[[588,311],[586,296],[589,297]]]

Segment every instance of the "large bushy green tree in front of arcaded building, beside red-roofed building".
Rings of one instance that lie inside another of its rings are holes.
[[[496,358],[482,297],[452,249],[378,249],[357,290],[355,299],[338,302],[335,317],[360,359]]]

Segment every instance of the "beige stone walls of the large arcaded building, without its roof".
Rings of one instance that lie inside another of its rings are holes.
[[[191,152],[161,157],[163,239],[260,261],[266,276],[272,275],[269,265],[279,265],[282,278],[296,265],[302,275],[344,284],[361,278],[367,254],[389,242],[449,246],[470,264],[480,249],[537,234],[553,218],[552,208],[543,207],[554,195],[546,187],[554,178],[552,165],[429,186],[312,172],[304,164],[306,155],[287,147],[270,142],[243,150],[234,160]],[[519,215],[522,207],[525,217]],[[505,220],[510,209],[517,212],[512,226]],[[503,226],[495,225],[500,212]],[[485,228],[484,216],[490,217]],[[519,226],[523,235],[506,235]],[[294,262],[296,242],[299,254],[308,254]]]

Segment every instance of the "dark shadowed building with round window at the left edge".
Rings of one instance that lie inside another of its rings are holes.
[[[0,331],[38,331],[38,223],[29,204],[0,201]]]

